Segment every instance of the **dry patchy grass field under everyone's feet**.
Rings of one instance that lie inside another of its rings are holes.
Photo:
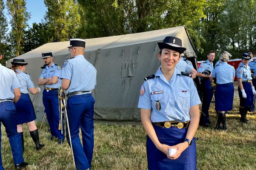
[[[211,128],[199,127],[196,137],[198,170],[255,170],[256,169],[256,113],[249,113],[248,125],[239,122],[239,99],[234,99],[233,114],[227,115],[227,131],[214,129],[216,115],[214,103],[210,106]],[[37,123],[40,127],[41,123]],[[41,130],[41,143],[46,146],[35,150],[35,145],[24,127],[25,161],[27,170],[75,170],[70,148],[65,141],[49,141],[45,124]],[[140,124],[107,125],[95,123],[95,145],[92,170],[146,170],[146,134]],[[6,170],[13,170],[13,159],[2,125],[2,161]]]

